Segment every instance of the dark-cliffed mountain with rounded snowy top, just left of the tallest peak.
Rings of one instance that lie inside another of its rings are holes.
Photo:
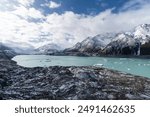
[[[102,52],[109,55],[139,55],[140,45],[141,43],[132,35],[119,33]]]

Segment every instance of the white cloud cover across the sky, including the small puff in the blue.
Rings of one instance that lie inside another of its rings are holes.
[[[88,36],[129,31],[139,24],[150,23],[150,5],[146,2],[140,2],[140,8],[133,8],[135,2],[129,2],[122,8],[124,11],[117,14],[107,9],[92,16],[72,11],[44,15],[33,7],[34,0],[3,0],[0,1],[5,5],[0,6],[0,41],[28,43],[35,47],[48,43],[69,47]],[[50,3],[50,8],[61,7],[61,4]]]

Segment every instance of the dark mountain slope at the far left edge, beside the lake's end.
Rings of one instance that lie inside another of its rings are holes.
[[[0,43],[0,58],[10,59],[10,58],[14,57],[15,55],[16,55],[16,53],[13,51],[13,49]]]

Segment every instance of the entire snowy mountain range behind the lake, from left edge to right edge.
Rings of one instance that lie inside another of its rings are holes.
[[[60,45],[49,43],[34,49],[26,44],[0,43],[0,56],[15,54],[46,54],[46,55],[150,55],[150,24],[137,26],[133,31],[120,33],[105,33],[76,43],[73,47],[63,49]]]

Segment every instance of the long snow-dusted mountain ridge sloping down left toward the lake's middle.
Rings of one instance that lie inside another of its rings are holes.
[[[82,42],[78,42],[72,48],[68,48],[65,52],[80,52],[80,53],[97,53],[102,50],[115,37],[113,33],[88,37]]]

